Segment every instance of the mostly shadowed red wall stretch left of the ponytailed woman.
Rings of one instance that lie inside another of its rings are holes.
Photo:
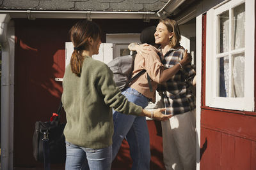
[[[63,78],[65,42],[72,24],[15,20],[14,167],[42,167],[33,158],[33,131],[36,121],[49,121],[58,110],[62,83],[54,78]]]

